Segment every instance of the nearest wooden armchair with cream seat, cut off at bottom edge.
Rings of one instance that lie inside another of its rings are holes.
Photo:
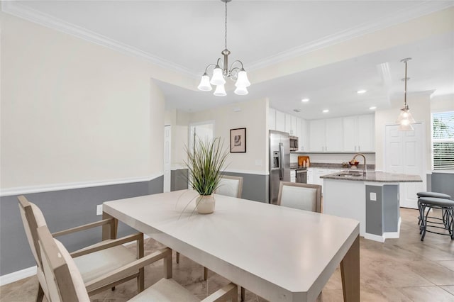
[[[89,302],[90,298],[84,286],[84,279],[77,268],[77,264],[70,253],[54,239],[48,228],[43,225],[38,228],[38,243],[40,255],[43,259],[43,271],[45,281],[49,289],[50,301],[52,302]],[[153,252],[153,260],[164,259],[165,262],[172,264],[172,250],[165,248],[158,252]],[[167,264],[164,264],[166,266]],[[135,266],[131,265],[131,269]],[[121,279],[122,275],[118,271],[108,272],[104,275],[105,279]],[[178,284],[171,276],[165,276],[152,286],[134,296],[128,301],[238,301],[238,289],[233,283],[224,286],[222,289],[212,293],[210,296],[200,300],[193,296],[187,289]]]

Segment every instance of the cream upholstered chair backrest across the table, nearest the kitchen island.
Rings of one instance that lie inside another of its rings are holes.
[[[281,181],[277,205],[320,213],[321,186]]]

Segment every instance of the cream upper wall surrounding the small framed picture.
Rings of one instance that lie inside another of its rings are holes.
[[[230,147],[230,130],[246,128],[246,153],[230,153],[226,171],[267,174],[267,108],[267,99],[236,103],[191,113],[189,123],[214,120],[214,136],[223,140],[226,149]]]

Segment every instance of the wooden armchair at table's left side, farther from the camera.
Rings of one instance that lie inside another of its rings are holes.
[[[29,202],[25,196],[18,196],[18,205],[28,243],[38,267],[37,276],[39,286],[36,301],[42,301],[43,296],[46,296],[49,300],[48,287],[44,281],[37,231],[39,227],[46,226],[45,218],[40,208],[34,203]],[[52,235],[54,237],[67,235],[99,226],[109,226],[111,230],[116,230],[116,220],[114,218],[104,219],[69,230],[62,230]],[[150,257],[144,257],[143,233],[136,233],[119,239],[116,239],[115,236],[116,233],[111,231],[110,239],[71,253],[79,272],[82,274],[82,279],[89,294],[98,293],[110,288],[114,289],[116,285],[134,278],[137,278],[138,291],[140,292],[144,289],[145,272],[143,267],[151,262]],[[137,254],[123,246],[125,243],[134,241],[137,245]],[[131,265],[134,265],[135,269],[131,269]],[[121,277],[118,279],[103,279],[101,277],[107,272],[114,271],[118,272],[118,276]]]

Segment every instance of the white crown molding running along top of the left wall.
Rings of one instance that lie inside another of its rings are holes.
[[[143,50],[139,50],[138,48],[118,42],[117,40],[107,38],[104,35],[99,35],[98,33],[94,33],[91,30],[87,30],[86,28],[76,26],[72,23],[68,23],[46,13],[36,11],[35,9],[24,6],[17,1],[1,1],[1,11],[19,18],[23,18],[33,23],[38,23],[42,26],[58,30],[62,33],[67,33],[68,35],[73,35],[77,38],[82,38],[89,42],[108,47],[111,50],[116,50],[125,55],[133,55],[134,57],[145,59],[148,62],[153,63],[154,65],[179,72],[180,74],[184,74],[188,77],[192,77],[194,79],[199,77],[198,74],[194,74],[194,72],[191,72],[189,69],[170,62],[169,60],[165,60],[162,57],[151,55],[148,52],[144,52]]]

